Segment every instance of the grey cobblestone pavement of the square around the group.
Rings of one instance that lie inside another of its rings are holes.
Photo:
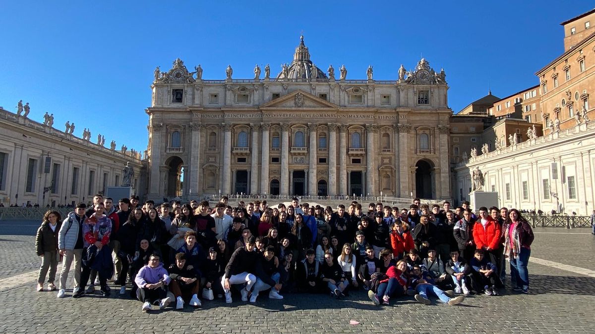
[[[7,235],[0,225],[2,276],[27,272],[39,266],[32,236]],[[595,237],[589,229],[536,229],[532,257],[593,269]],[[35,231],[34,231],[35,232]],[[555,234],[553,234],[555,233]],[[579,234],[575,234],[579,233]],[[58,266],[60,269],[60,265]],[[345,300],[327,295],[287,294],[255,304],[239,296],[231,305],[203,301],[203,307],[183,311],[140,311],[140,302],[90,295],[78,300],[56,298],[55,292],[36,292],[35,282],[2,291],[1,333],[585,333],[595,328],[595,278],[530,263],[531,294],[499,297],[472,296],[461,305],[426,306],[411,298],[398,298],[390,306],[375,306],[364,292]],[[72,275],[71,275],[72,276]],[[71,278],[68,282],[71,285]],[[504,292],[504,291],[503,291]],[[70,295],[68,291],[68,295]],[[349,324],[350,320],[359,322]]]

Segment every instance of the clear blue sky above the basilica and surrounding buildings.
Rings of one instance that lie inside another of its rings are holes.
[[[425,5],[425,7],[424,7]],[[394,80],[423,55],[444,68],[458,112],[488,92],[504,97],[538,83],[534,73],[563,52],[559,23],[593,1],[2,1],[0,106],[55,127],[74,121],[140,152],[146,149],[149,86],[176,58],[203,78],[271,75],[292,60],[303,31],[321,68],[347,78]],[[98,119],[102,121],[98,121]]]

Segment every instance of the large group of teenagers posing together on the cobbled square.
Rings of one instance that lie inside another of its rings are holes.
[[[211,208],[208,201],[141,205],[137,196],[113,203],[98,194],[64,219],[56,210],[43,216],[37,291],[47,276],[47,289],[66,297],[74,262],[73,298],[96,287],[107,297],[113,281],[143,311],[200,307],[199,295],[255,303],[265,291],[270,299],[292,292],[343,298],[362,289],[377,305],[406,295],[456,305],[469,294],[499,295],[509,261],[512,290],[529,292],[534,234],[518,210],[480,207],[476,214],[468,202],[454,210],[447,201],[413,202],[401,210],[370,203],[364,211],[355,201],[334,210],[298,198],[231,207],[222,197]]]

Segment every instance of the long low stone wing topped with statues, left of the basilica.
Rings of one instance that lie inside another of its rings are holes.
[[[0,108],[0,203],[88,203],[96,193],[122,184],[127,162],[134,171],[132,186],[143,196],[140,154],[115,150],[114,145],[108,149],[70,132]]]

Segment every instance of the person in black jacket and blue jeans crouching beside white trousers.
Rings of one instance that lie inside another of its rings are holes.
[[[252,295],[250,295],[250,303],[256,303],[259,292],[266,289],[271,289],[268,298],[283,299],[283,296],[279,294],[279,290],[283,286],[279,283],[280,279],[281,273],[278,266],[275,265],[275,247],[268,246],[256,261],[256,283],[254,283]]]

